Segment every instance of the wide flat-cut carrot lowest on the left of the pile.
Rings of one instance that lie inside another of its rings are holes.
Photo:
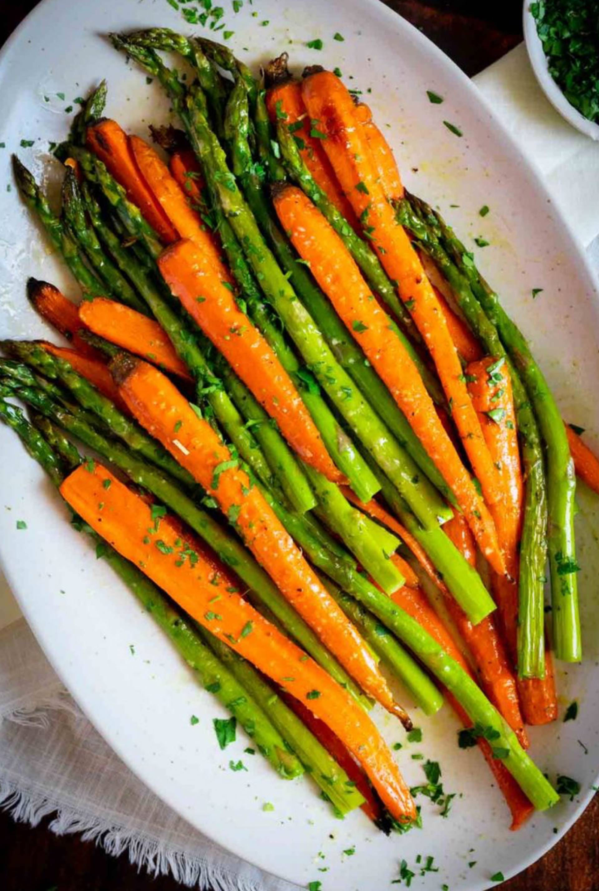
[[[154,528],[151,506],[97,463],[92,470],[86,466],[71,473],[61,493],[80,517],[196,622],[306,703],[363,765],[390,812],[404,822],[414,819],[409,789],[371,718],[329,674],[236,593],[233,578],[215,573],[193,536],[182,540],[179,525],[168,516],[160,519],[155,533],[148,534]],[[190,559],[190,553],[197,559]]]

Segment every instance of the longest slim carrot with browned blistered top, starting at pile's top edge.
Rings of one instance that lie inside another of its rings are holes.
[[[319,121],[318,126],[324,135],[324,151],[332,163],[341,188],[346,192],[357,216],[368,225],[370,243],[390,279],[398,282],[399,296],[431,352],[455,426],[472,463],[472,469],[480,481],[485,501],[489,505],[499,503],[501,487],[496,468],[468,396],[459,356],[447,330],[439,300],[410,239],[398,224],[394,209],[373,172],[365,149],[365,140],[356,127],[355,106],[351,95],[340,78],[330,71],[320,71],[304,79],[302,96],[310,117]],[[314,265],[312,269],[316,272]],[[443,471],[441,467],[439,470]],[[465,478],[462,481],[466,486]],[[450,480],[447,479],[447,482],[451,485]],[[459,501],[457,492],[455,497]],[[467,504],[461,503],[461,507],[476,535],[480,550],[496,571],[503,574],[504,560],[497,546],[495,528],[488,511],[484,518],[478,519],[472,511],[472,495]],[[480,507],[474,510],[481,513]]]

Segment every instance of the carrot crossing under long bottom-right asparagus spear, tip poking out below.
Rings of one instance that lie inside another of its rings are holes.
[[[472,676],[472,670],[464,658],[462,650],[455,644],[451,634],[441,622],[439,616],[431,607],[431,603],[421,589],[414,590],[404,586],[398,592],[393,594],[393,600],[402,609],[405,609],[411,617],[422,625],[423,628],[431,634],[444,650],[447,651],[451,658],[455,659]],[[468,715],[464,709],[456,701],[451,693],[446,692],[447,701],[454,709],[455,714],[460,721],[464,723],[464,727],[472,726]],[[521,825],[529,819],[534,813],[534,807],[530,804],[529,799],[524,795],[518,783],[513,779],[512,774],[507,770],[505,764],[493,756],[493,750],[487,740],[479,737],[477,740],[480,751],[482,752],[487,764],[495,775],[497,785],[505,797],[505,802],[512,813],[512,830],[520,829]]]

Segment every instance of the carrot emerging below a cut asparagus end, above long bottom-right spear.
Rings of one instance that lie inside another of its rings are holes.
[[[455,514],[455,517],[447,521],[443,530],[471,566],[476,566],[476,546],[463,514]],[[464,609],[461,609],[453,597],[446,597],[445,603],[472,656],[481,687],[497,711],[505,717],[522,748],[528,748],[529,740],[522,721],[516,679],[494,618],[487,616],[478,625],[472,625]]]

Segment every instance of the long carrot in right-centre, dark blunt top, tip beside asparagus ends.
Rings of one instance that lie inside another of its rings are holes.
[[[277,190],[274,202],[277,216],[295,249],[308,262],[316,281],[453,489],[481,551],[497,571],[503,572],[503,558],[488,508],[443,429],[414,361],[393,330],[390,316],[374,299],[339,235],[304,192],[293,185],[283,186]],[[462,375],[459,360],[457,364]],[[470,404],[467,393],[466,399]],[[476,413],[474,418],[480,429]],[[496,474],[492,462],[491,468]]]

